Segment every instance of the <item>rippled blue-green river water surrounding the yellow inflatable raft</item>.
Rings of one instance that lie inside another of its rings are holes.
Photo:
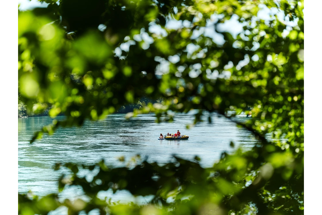
[[[216,113],[204,113],[204,122],[187,129],[194,121],[194,113],[176,114],[174,122],[156,123],[153,114],[125,119],[125,114],[109,115],[100,121],[85,121],[82,127],[59,128],[53,135],[43,135],[33,144],[29,141],[35,131],[52,123],[50,117],[18,118],[18,192],[31,190],[44,196],[58,192],[58,178],[68,171],[64,168],[54,171],[55,163],[94,164],[104,159],[109,166],[127,165],[131,157],[140,154],[150,162],[162,164],[177,155],[184,159],[201,158],[203,167],[211,167],[223,151],[232,153],[237,147],[249,150],[256,142],[249,131],[239,128],[230,119]],[[209,124],[208,117],[212,123]],[[64,117],[56,118],[64,120]],[[245,121],[246,117],[236,117]],[[160,133],[188,135],[188,140],[158,140]],[[233,141],[235,148],[230,147]],[[124,156],[125,162],[118,161]],[[94,171],[95,172],[95,171]],[[86,175],[82,171],[80,174]],[[88,175],[88,180],[92,176]],[[126,191],[99,193],[103,198],[113,197],[117,201],[140,201]],[[59,194],[61,199],[73,199],[82,195],[80,187],[66,187]]]

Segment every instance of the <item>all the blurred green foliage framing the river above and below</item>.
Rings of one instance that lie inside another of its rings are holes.
[[[142,162],[134,169],[101,162],[90,182],[77,176],[81,167],[65,164],[73,176],[62,178],[59,190],[81,185],[90,201],[18,194],[19,214],[47,214],[62,205],[69,214],[95,208],[101,214],[304,213],[304,1],[45,2],[47,8],[18,10],[18,115],[19,109],[26,114],[50,109],[51,117],[63,113],[67,120],[44,127],[31,142],[58,126],[105,118],[148,96],[162,99],[139,103],[127,116],[154,112],[158,121],[163,116],[171,121],[168,110],[205,109],[232,118],[227,111],[251,107],[246,110],[251,119],[237,124],[249,129],[258,145],[249,152],[223,153],[207,169],[198,158],[176,158],[165,166]],[[262,5],[283,12],[284,20],[276,13],[267,21],[257,18]],[[236,37],[218,32],[232,15],[243,24]],[[170,17],[185,24],[167,29]],[[287,26],[292,20],[297,25]],[[224,44],[205,36],[206,25],[223,35]],[[151,33],[150,26],[164,33]],[[195,48],[189,52],[189,47]],[[161,78],[155,75],[160,62],[168,65]],[[147,206],[114,205],[97,197],[107,189],[154,198]]]

